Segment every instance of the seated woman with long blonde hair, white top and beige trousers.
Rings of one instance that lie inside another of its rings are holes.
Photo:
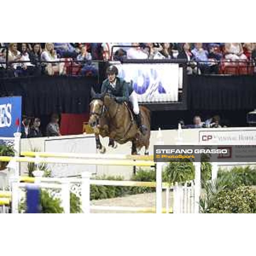
[[[41,54],[41,60],[47,61],[46,72],[49,76],[54,75],[54,73],[59,73],[59,75],[64,74],[64,63],[59,62],[60,60],[57,57],[57,53],[54,50],[53,43],[46,43],[45,49]],[[52,63],[49,63],[52,62]],[[58,63],[59,62],[59,63]]]

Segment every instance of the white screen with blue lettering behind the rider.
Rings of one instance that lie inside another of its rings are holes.
[[[178,64],[125,63],[116,67],[120,77],[127,82],[132,81],[139,102],[178,101],[179,83],[182,83],[182,69]]]

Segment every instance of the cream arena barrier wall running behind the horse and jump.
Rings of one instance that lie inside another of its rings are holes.
[[[149,145],[149,154],[153,154],[154,145],[157,145],[157,133],[158,131],[151,131],[151,140]],[[208,144],[208,145],[245,145],[256,144],[256,140],[250,140],[250,138],[256,138],[256,128],[201,128],[201,129],[182,129],[182,130],[162,130],[163,141],[165,145],[179,145],[180,143],[196,145]],[[250,136],[249,136],[250,135]],[[212,139],[209,139],[211,138]],[[208,139],[207,139],[208,138]],[[87,143],[88,141],[88,143]],[[108,148],[108,138],[101,139],[102,145],[107,148],[107,154],[130,154],[131,143],[124,145],[118,145],[118,148]],[[83,145],[84,143],[84,145]],[[81,134],[73,136],[62,137],[42,137],[33,139],[21,140],[21,151],[32,151],[37,148],[38,151],[52,151],[52,152],[74,152],[74,153],[96,153],[96,145],[93,135]],[[143,150],[140,152],[144,154]],[[57,168],[57,167],[56,167]],[[77,175],[81,170],[76,170],[76,166],[71,168],[70,175]],[[90,166],[93,169],[93,173],[97,175],[121,175],[125,179],[130,179],[133,174],[133,167],[123,166]],[[67,166],[62,165],[58,169],[64,170],[62,173],[67,175]],[[26,174],[26,164],[21,164],[21,174]],[[61,176],[61,172],[56,170],[55,176]],[[68,175],[67,175],[68,176]]]

